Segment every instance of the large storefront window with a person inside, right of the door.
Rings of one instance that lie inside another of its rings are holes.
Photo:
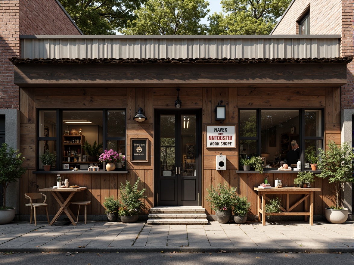
[[[323,115],[319,109],[245,109],[239,112],[239,156],[259,155],[265,168],[282,163],[310,168],[307,152],[323,144]],[[294,158],[290,150],[298,152]],[[289,153],[289,154],[288,154]]]

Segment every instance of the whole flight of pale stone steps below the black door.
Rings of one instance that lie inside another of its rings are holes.
[[[206,225],[205,209],[200,206],[162,206],[150,209],[148,224]]]

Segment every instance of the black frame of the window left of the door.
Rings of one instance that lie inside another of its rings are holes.
[[[56,137],[39,137],[40,134],[40,128],[39,128],[39,113],[40,111],[56,111],[56,123],[57,123],[57,129],[56,129]],[[63,111],[102,111],[102,142],[103,142],[103,150],[107,148],[107,141],[108,140],[120,140],[120,141],[125,141],[125,152],[127,152],[127,109],[126,108],[38,108],[36,109],[36,171],[44,171],[44,169],[40,168],[40,162],[39,162],[39,142],[40,141],[56,141],[56,168],[51,168],[50,171],[70,171],[70,169],[62,169],[61,165],[63,159],[61,154],[63,153],[63,137],[62,137],[62,131],[63,131]],[[124,111],[125,113],[125,118],[124,118],[124,123],[125,123],[125,132],[124,135],[125,137],[107,137],[107,112],[108,111]],[[60,155],[58,155],[60,154]],[[125,157],[127,158],[127,154],[125,154]],[[116,171],[123,171],[126,170],[126,165],[127,163],[124,164],[124,167],[121,169],[116,169]],[[48,171],[48,172],[50,172]],[[98,171],[99,172],[99,171]]]

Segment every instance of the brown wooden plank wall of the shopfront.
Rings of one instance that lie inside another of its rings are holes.
[[[119,93],[117,92],[119,91]],[[25,156],[24,166],[27,172],[20,180],[20,192],[38,192],[40,188],[51,187],[55,183],[56,174],[33,174],[35,170],[35,131],[36,108],[126,108],[127,115],[127,169],[129,174],[64,174],[71,183],[87,187],[87,191],[75,195],[75,200],[91,201],[88,206],[89,215],[104,214],[104,197],[119,195],[120,183],[126,180],[133,184],[138,177],[143,181],[139,188],[146,188],[144,213],[154,205],[154,175],[153,175],[153,125],[154,109],[175,109],[177,97],[176,87],[166,88],[26,88],[20,89],[20,149]],[[238,107],[324,107],[325,108],[325,141],[340,141],[340,88],[181,88],[179,97],[183,108],[202,109],[202,206],[207,214],[214,214],[206,202],[206,188],[226,181],[228,185],[237,187],[240,196],[247,196],[251,202],[250,214],[257,214],[257,194],[253,187],[263,182],[265,176],[270,183],[278,177],[286,186],[293,186],[296,174],[236,174],[238,169],[238,146],[236,148],[206,148],[206,124],[218,124],[215,121],[214,108],[219,100],[227,108],[227,120],[223,124],[235,124],[238,128]],[[143,123],[137,123],[133,117],[141,107],[148,118]],[[236,129],[236,139],[238,137]],[[149,162],[130,162],[130,139],[149,139]],[[236,140],[236,143],[238,141]],[[227,170],[215,170],[215,156],[219,153],[227,155]],[[324,207],[335,202],[335,191],[332,186],[316,178],[314,187],[321,188],[315,192],[315,214],[324,214]],[[282,198],[285,202],[285,197]],[[25,207],[24,196],[20,197],[20,214],[28,215],[29,207]],[[54,198],[47,194],[49,214],[58,210]],[[290,202],[291,203],[291,202]],[[298,205],[297,210],[302,210]],[[77,206],[72,205],[77,212]],[[39,209],[38,214],[45,214]]]

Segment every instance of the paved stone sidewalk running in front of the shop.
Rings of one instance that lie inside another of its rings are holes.
[[[92,221],[0,226],[0,252],[354,252],[354,222],[148,225]]]

